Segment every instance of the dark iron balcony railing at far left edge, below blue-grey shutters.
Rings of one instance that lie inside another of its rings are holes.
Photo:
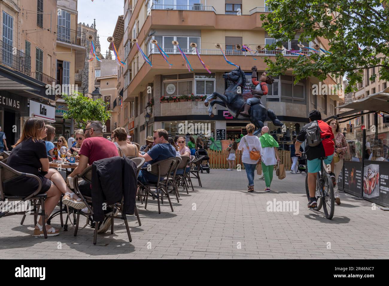
[[[0,63],[18,70],[23,74],[31,74],[31,57],[0,40]]]

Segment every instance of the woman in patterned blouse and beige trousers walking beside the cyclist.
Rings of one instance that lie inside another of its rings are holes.
[[[343,133],[339,132],[339,122],[336,119],[331,119],[327,121],[327,124],[331,126],[332,133],[334,133],[335,137],[335,152],[334,152],[334,173],[335,173],[335,179],[336,182],[338,182],[338,177],[340,174],[340,170],[343,168],[343,160],[346,155],[347,149],[349,149],[349,146],[347,145],[346,139],[343,135]],[[334,195],[335,195],[335,202],[336,204],[340,205],[340,194],[338,189],[338,184],[334,187]]]

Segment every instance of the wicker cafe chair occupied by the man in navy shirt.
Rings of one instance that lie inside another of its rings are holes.
[[[165,160],[158,161],[156,163],[151,164],[151,171],[148,171],[150,174],[158,177],[157,182],[150,182],[150,183],[142,183],[139,182],[140,187],[145,189],[145,209],[147,208],[147,199],[149,198],[149,195],[151,197],[156,197],[158,200],[158,213],[161,213],[161,206],[159,204],[159,190],[163,191],[165,193],[166,197],[169,200],[170,208],[172,209],[173,212],[173,206],[172,202],[170,201],[169,194],[167,192],[167,185],[170,177],[170,173],[173,170],[173,166],[176,163],[176,158],[167,158]],[[142,168],[141,170],[147,171],[147,167]],[[159,181],[162,177],[166,177],[166,180],[164,181]],[[154,195],[152,193],[152,189],[156,189],[157,195]],[[163,204],[163,197],[161,198],[161,202]]]

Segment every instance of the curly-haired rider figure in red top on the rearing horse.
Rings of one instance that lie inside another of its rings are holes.
[[[251,68],[252,75],[251,81],[256,86],[255,89],[251,89],[251,94],[253,97],[247,98],[246,104],[244,105],[244,111],[240,112],[240,114],[249,116],[249,109],[251,105],[254,104],[262,104],[261,97],[262,95],[267,95],[268,88],[267,84],[273,84],[274,79],[271,75],[268,75],[267,72],[263,72],[263,74],[259,77],[259,81],[257,81],[257,67],[254,66]]]

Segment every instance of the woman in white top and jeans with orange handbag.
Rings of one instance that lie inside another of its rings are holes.
[[[259,153],[259,148],[261,147],[258,137],[252,133],[255,130],[255,125],[249,123],[246,125],[247,135],[243,136],[240,139],[240,144],[238,150],[243,149],[242,153],[242,162],[246,170],[247,179],[249,184],[247,185],[248,192],[252,193],[254,191],[254,171],[255,166],[257,165],[261,155]]]

